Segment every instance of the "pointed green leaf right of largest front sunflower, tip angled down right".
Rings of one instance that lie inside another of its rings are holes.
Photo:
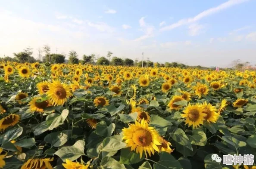
[[[187,138],[187,135],[185,134],[185,132],[182,129],[178,128],[174,133],[170,133],[170,136],[178,144],[181,144],[181,145],[187,147],[188,149],[190,149],[191,151],[193,151],[192,145],[190,144],[190,141]]]

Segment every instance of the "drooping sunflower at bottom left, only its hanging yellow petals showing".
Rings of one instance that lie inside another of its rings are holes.
[[[51,161],[53,158],[31,158],[22,165],[21,169],[53,169]]]

